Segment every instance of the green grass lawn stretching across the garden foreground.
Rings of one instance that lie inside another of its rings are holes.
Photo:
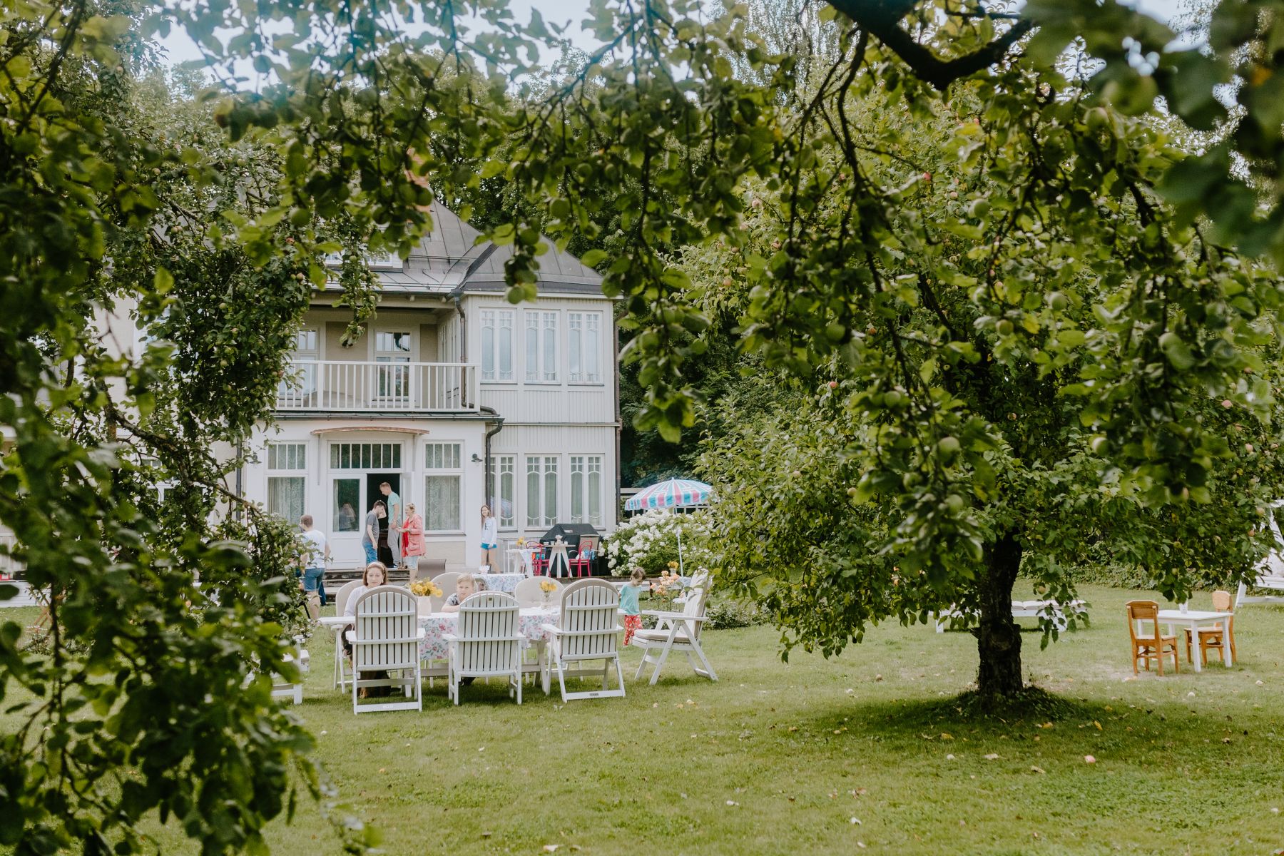
[[[1025,634],[1030,681],[1061,703],[1016,717],[960,717],[975,642],[922,625],[788,663],[769,628],[714,631],[716,684],[678,660],[623,699],[562,706],[528,687],[517,707],[478,684],[455,707],[438,681],[421,714],[360,717],[330,689],[317,634],[297,711],[388,853],[1284,848],[1284,610],[1242,610],[1230,670],[1134,679],[1122,604],[1136,594],[1089,586],[1091,628],[1046,651]],[[627,652],[629,676],[637,660]],[[163,852],[196,851],[177,829],[154,835]],[[270,841],[338,850],[312,805]]]

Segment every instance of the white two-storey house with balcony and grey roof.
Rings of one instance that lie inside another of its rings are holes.
[[[313,295],[275,424],[240,474],[247,498],[311,513],[335,567],[363,562],[366,511],[388,483],[424,517],[428,556],[480,561],[480,507],[502,542],[556,522],[616,522],[619,400],[612,302],[568,253],[539,258],[538,299],[505,299],[508,248],[444,207],[404,262],[372,259],[381,299],[343,347],[351,312]]]

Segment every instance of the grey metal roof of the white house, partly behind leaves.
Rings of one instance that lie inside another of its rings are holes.
[[[433,203],[431,214],[431,234],[411,250],[402,270],[375,271],[385,291],[448,294],[461,285],[465,293],[507,287],[503,263],[512,257],[512,246],[497,246],[493,241],[478,244],[482,232],[440,203]],[[550,250],[537,258],[537,287],[541,291],[602,293],[601,276],[570,253],[559,250],[551,240],[544,240]]]

